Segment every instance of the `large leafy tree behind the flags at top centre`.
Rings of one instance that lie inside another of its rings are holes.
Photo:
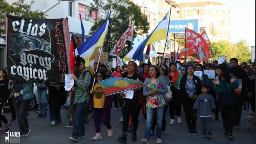
[[[140,10],[140,7],[135,5],[130,0],[93,0],[91,3],[92,9],[90,11],[97,10],[101,17],[98,17],[97,22],[91,27],[90,35],[93,34],[100,26],[105,22],[108,17],[109,10],[112,6],[110,26],[108,29],[108,35],[106,36],[105,43],[103,45],[104,52],[111,52],[116,42],[121,35],[128,29],[132,21],[135,20],[134,37],[137,35],[143,35],[148,32],[149,24],[147,17]],[[127,42],[121,53],[121,58],[124,57],[131,50],[132,43]],[[113,58],[109,56],[109,58]]]

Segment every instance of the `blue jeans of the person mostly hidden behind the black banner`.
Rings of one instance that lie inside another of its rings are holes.
[[[47,88],[45,89],[37,89],[37,94],[38,94],[38,102],[39,102],[39,109],[40,109],[40,114],[43,115],[46,113],[46,97],[47,97]]]

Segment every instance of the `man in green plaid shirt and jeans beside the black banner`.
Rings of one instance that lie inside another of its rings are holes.
[[[78,64],[79,63],[79,64]],[[84,108],[85,104],[89,103],[89,93],[87,91],[90,85],[91,76],[85,69],[85,61],[79,57],[76,61],[76,74],[72,75],[75,84],[71,91],[75,92],[73,104],[75,106],[75,120],[72,136],[69,138],[72,141],[78,141],[79,138],[84,138]],[[84,72],[86,73],[83,78]]]

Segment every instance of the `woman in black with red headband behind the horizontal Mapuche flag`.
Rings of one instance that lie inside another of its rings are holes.
[[[142,75],[137,73],[138,66],[137,64],[130,60],[128,62],[128,72],[125,72],[122,74],[122,78],[129,78],[133,80],[139,79],[139,81],[144,82],[144,78]],[[142,94],[142,88],[134,89],[134,94],[132,99],[125,98],[125,93],[119,93],[120,96],[122,96],[124,99],[122,101],[122,115],[123,115],[123,123],[122,123],[122,136],[117,138],[117,141],[126,143],[127,142],[127,131],[128,131],[128,124],[129,124],[129,118],[131,115],[132,118],[132,124],[133,124],[133,130],[131,132],[131,141],[137,141],[137,128],[139,125],[139,114],[140,114],[140,108],[141,103],[143,103],[143,94]]]

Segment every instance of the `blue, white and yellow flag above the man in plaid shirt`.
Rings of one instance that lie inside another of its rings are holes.
[[[78,49],[78,54],[84,58],[85,66],[90,66],[90,60],[96,55],[100,46],[104,44],[105,37],[108,33],[108,26],[110,23],[110,14],[109,12],[107,20],[103,25],[92,35],[90,36]]]

